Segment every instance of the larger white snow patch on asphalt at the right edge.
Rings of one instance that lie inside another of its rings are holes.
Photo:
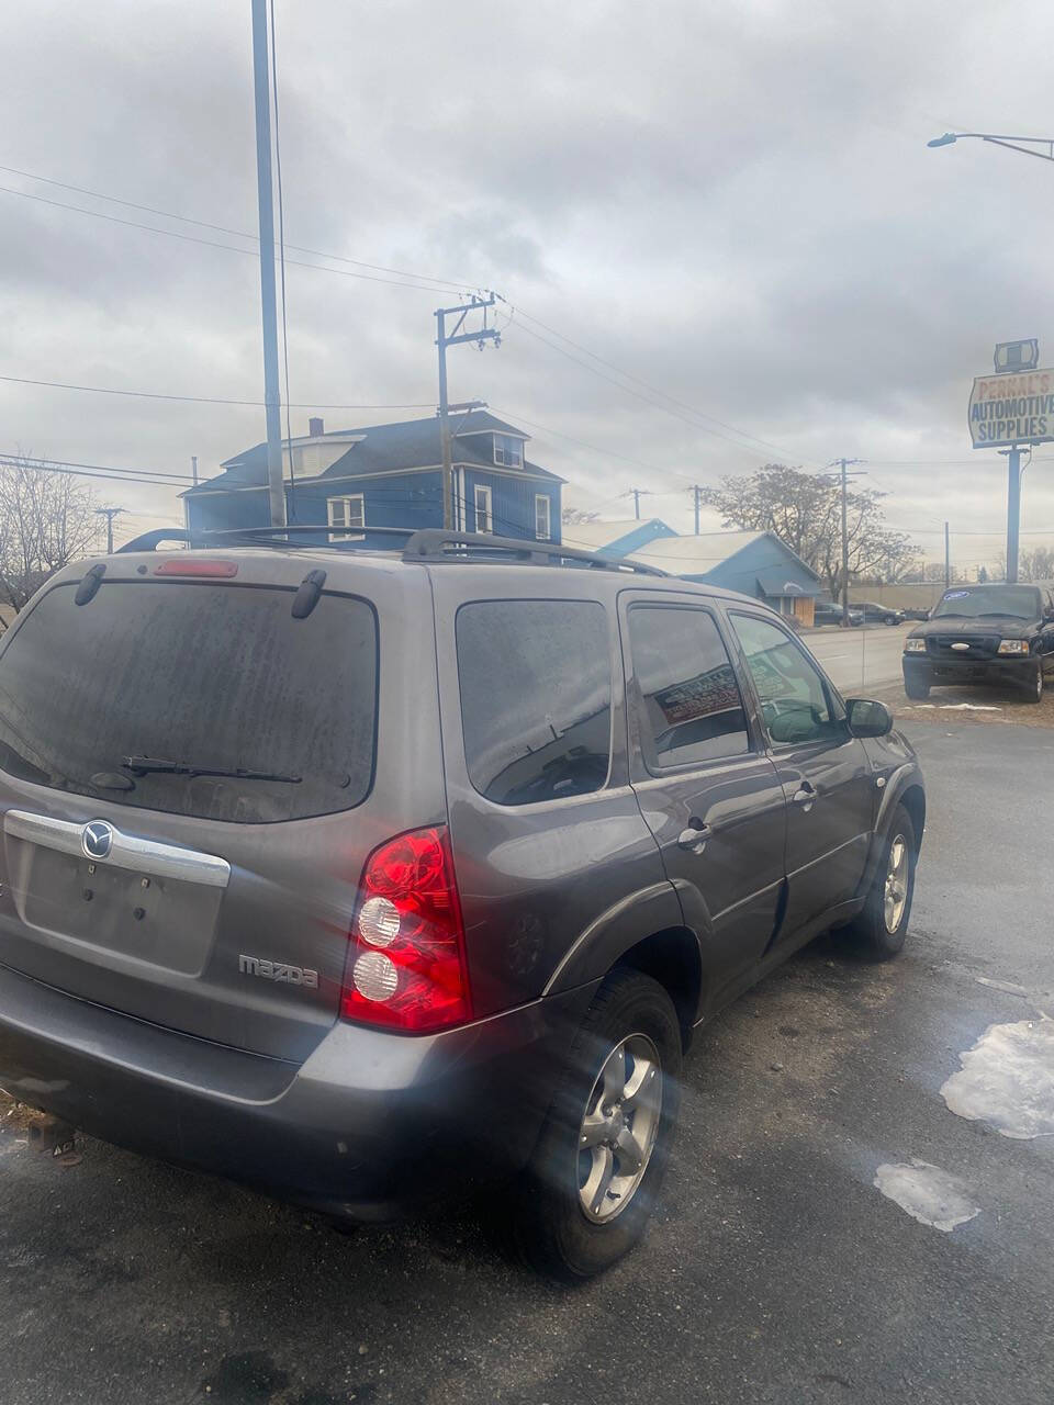
[[[991,1024],[944,1083],[953,1113],[1003,1137],[1054,1137],[1054,1020]]]

